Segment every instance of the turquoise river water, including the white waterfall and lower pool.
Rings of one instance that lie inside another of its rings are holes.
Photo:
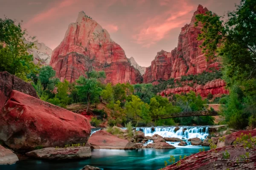
[[[183,128],[187,130],[183,132]],[[180,127],[177,132],[174,132],[174,129],[175,127],[155,127],[153,130],[151,127],[137,127],[137,130],[143,131],[145,136],[159,134],[163,137],[183,138],[186,142],[189,138],[198,137],[203,140],[208,136],[208,127]],[[187,146],[178,146],[179,142],[168,143],[174,145],[176,149],[97,149],[92,150],[91,159],[77,161],[26,159],[13,165],[0,165],[0,170],[80,170],[87,164],[104,170],[156,170],[164,167],[164,161],[167,161],[171,155],[175,156],[175,160],[178,161],[180,156],[198,153],[199,149],[203,148],[202,146],[192,146],[190,142]],[[204,149],[209,150],[209,147],[204,147]]]

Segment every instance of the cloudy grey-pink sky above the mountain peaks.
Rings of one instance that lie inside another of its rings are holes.
[[[149,66],[162,49],[177,46],[180,28],[190,23],[198,4],[219,15],[240,0],[0,0],[0,17],[23,20],[23,28],[54,49],[67,26],[84,11],[111,34],[111,38]]]

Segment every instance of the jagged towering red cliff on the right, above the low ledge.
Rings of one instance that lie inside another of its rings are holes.
[[[200,74],[209,68],[219,68],[219,62],[206,61],[205,55],[199,46],[203,40],[198,41],[198,34],[201,33],[202,24],[195,27],[195,16],[204,14],[207,8],[199,5],[197,11],[194,12],[192,20],[181,28],[178,38],[177,48],[171,52],[160,51],[155,59],[151,62],[151,66],[146,68],[143,76],[144,83],[151,83],[156,80],[167,80],[190,74]]]

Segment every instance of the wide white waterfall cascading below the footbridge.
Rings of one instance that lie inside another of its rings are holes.
[[[209,135],[208,133],[208,127],[180,127],[179,130],[175,132],[176,127],[137,127],[136,130],[143,131],[145,133],[145,136],[153,136],[154,134],[158,134],[163,137],[175,137],[175,138],[184,138],[184,139],[190,139],[190,138],[200,138],[200,139],[206,139],[206,137]]]

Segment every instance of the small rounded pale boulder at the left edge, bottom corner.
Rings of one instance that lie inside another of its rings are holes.
[[[19,161],[17,155],[15,155],[11,150],[0,145],[0,165],[15,164],[17,161]]]

